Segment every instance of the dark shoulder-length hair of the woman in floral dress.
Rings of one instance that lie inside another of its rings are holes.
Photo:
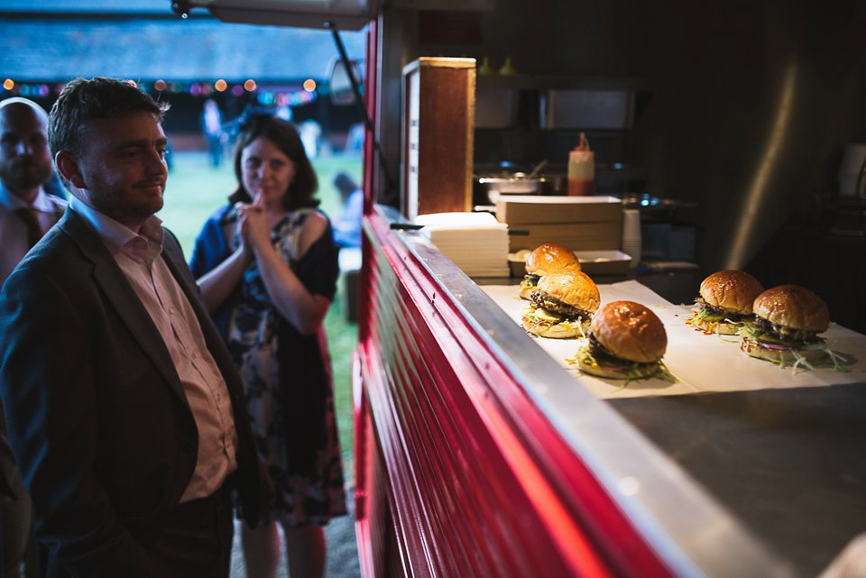
[[[318,206],[318,198],[313,195],[318,189],[318,179],[313,165],[309,162],[304,143],[300,141],[298,129],[294,124],[281,118],[267,114],[245,114],[239,127],[235,143],[235,177],[237,188],[228,197],[230,203],[250,203],[253,197],[244,188],[241,173],[241,155],[244,149],[255,139],[264,137],[273,142],[295,164],[295,178],[282,196],[282,206],[287,211],[294,211],[305,206]]]

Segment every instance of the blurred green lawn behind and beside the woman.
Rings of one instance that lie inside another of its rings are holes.
[[[176,234],[189,260],[201,225],[208,216],[226,203],[235,190],[235,173],[230,161],[218,169],[207,164],[205,153],[177,152],[171,160],[165,206],[159,213],[164,225]],[[340,212],[341,201],[333,180],[337,172],[345,170],[356,182],[361,182],[361,159],[335,155],[316,159],[313,166],[318,175],[318,198],[322,210],[332,218]],[[342,283],[339,285],[342,290]],[[352,391],[350,363],[358,339],[357,326],[346,322],[340,307],[339,295],[334,299],[325,319],[328,347],[334,372],[334,393],[340,443],[343,449],[345,474],[354,478],[352,459]]]

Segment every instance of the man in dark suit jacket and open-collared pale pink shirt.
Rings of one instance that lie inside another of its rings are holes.
[[[162,206],[163,106],[69,83],[69,209],[0,295],[0,395],[48,576],[226,577],[232,500],[262,510],[243,386]]]

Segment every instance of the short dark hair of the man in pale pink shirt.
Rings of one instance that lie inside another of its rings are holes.
[[[138,87],[116,78],[76,78],[69,81],[57,97],[48,118],[48,143],[51,156],[69,151],[79,156],[87,138],[88,121],[134,112],[147,112],[161,122],[169,109]]]

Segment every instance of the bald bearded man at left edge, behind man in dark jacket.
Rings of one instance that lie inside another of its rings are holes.
[[[66,209],[43,185],[53,175],[48,115],[26,98],[0,102],[0,285]],[[0,417],[2,420],[2,417]],[[38,575],[32,538],[32,503],[0,423],[0,570],[3,578]]]

